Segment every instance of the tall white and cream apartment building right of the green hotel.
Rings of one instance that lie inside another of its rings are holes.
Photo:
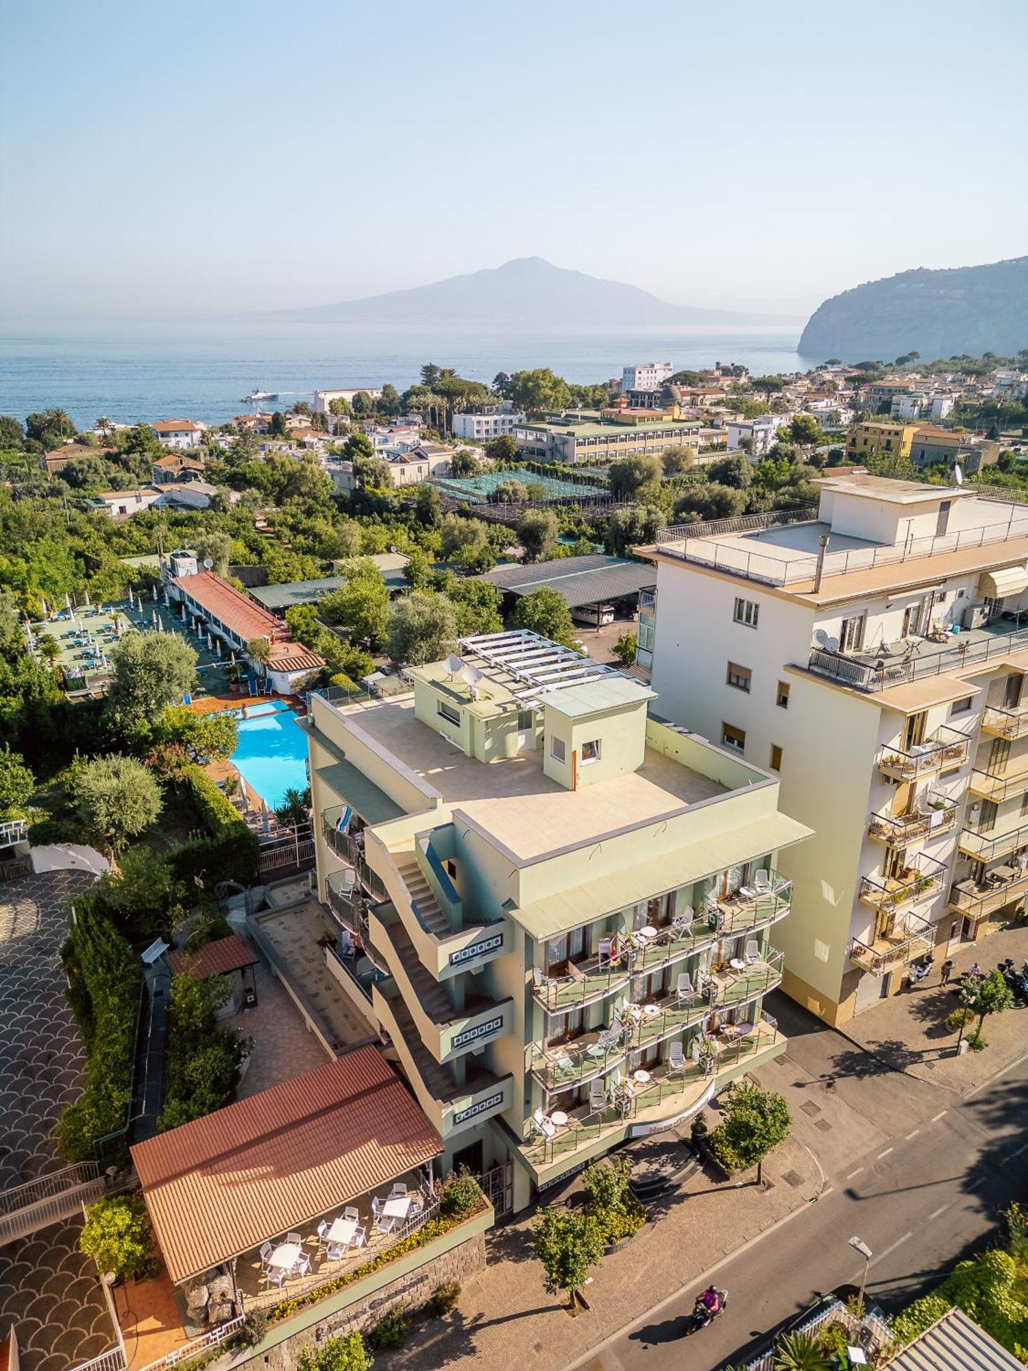
[[[850,476],[817,520],[665,529],[650,553],[662,710],[777,773],[817,831],[783,856],[784,988],[840,1023],[1007,919],[1028,893],[1028,510]]]

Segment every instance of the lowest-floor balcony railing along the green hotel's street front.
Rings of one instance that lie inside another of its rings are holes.
[[[688,1058],[677,1069],[661,1063],[650,1068],[650,1080],[646,1084],[633,1083],[628,1089],[622,1087],[615,1101],[603,1109],[580,1106],[552,1138],[536,1132],[525,1145],[524,1154],[532,1165],[548,1167],[555,1161],[573,1158],[576,1152],[596,1138],[629,1131],[633,1123],[658,1124],[661,1106],[668,1117],[683,1108],[688,1109],[689,1105],[699,1108],[720,1075],[735,1071],[740,1064],[781,1041],[776,1021],[768,1015],[761,1015],[748,1034],[718,1045],[713,1057],[707,1056],[702,1061]]]

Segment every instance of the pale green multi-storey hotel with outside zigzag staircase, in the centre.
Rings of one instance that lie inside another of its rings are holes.
[[[318,888],[444,1167],[521,1208],[784,1050],[777,853],[809,829],[637,680],[525,631],[458,646],[408,694],[313,696]]]

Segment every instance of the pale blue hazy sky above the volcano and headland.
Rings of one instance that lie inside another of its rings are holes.
[[[1028,252],[1024,0],[0,0],[0,306],[319,304],[540,255],[788,306]]]

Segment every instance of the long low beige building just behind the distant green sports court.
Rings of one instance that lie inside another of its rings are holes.
[[[696,420],[651,418],[644,410],[607,410],[606,417],[517,424],[524,457],[543,462],[610,462],[636,452],[659,457],[669,447],[699,450]]]

